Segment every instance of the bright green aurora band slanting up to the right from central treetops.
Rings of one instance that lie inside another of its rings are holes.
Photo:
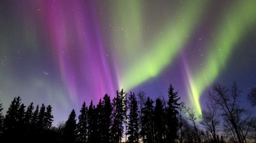
[[[177,53],[189,40],[188,36],[193,31],[193,28],[195,28],[198,20],[200,20],[202,15],[201,8],[204,8],[205,4],[200,0],[184,3],[181,6],[182,10],[180,10],[180,13],[175,15],[166,25],[164,34],[154,37],[147,45],[140,44],[148,47],[148,49],[136,50],[137,53],[130,57],[134,61],[125,64],[130,65],[129,68],[123,68],[119,72],[119,87],[131,90],[148,79],[157,76],[164,67],[172,64]],[[137,56],[137,54],[139,55]],[[125,59],[126,62],[129,60]]]

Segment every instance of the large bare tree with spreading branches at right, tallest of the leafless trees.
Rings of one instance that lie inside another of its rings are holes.
[[[241,131],[242,114],[246,114],[243,108],[239,107],[239,92],[236,82],[233,82],[231,88],[224,87],[220,84],[215,84],[213,91],[209,92],[210,99],[213,104],[218,105],[222,111],[226,127],[230,129],[230,135],[233,135],[234,141],[246,143],[246,131]]]

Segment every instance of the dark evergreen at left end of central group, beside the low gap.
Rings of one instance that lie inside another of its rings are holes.
[[[76,139],[76,112],[73,109],[65,123],[64,139],[65,142],[74,143]]]

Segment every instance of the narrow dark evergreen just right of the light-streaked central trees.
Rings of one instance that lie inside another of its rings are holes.
[[[134,93],[130,93],[128,101],[128,143],[138,143],[139,141],[139,125],[138,125],[138,106]]]

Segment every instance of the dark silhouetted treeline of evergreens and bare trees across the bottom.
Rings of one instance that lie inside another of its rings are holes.
[[[14,98],[6,115],[0,104],[1,142],[56,143],[252,143],[256,142],[256,117],[239,104],[240,91],[215,84],[209,92],[207,109],[197,115],[180,102],[172,85],[168,99],[152,100],[141,91],[105,95],[97,104],[82,104],[68,120],[52,126],[52,107],[26,107]],[[248,94],[256,106],[256,88]],[[78,115],[78,116],[77,116]]]

